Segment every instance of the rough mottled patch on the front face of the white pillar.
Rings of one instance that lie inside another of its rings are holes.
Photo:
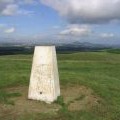
[[[52,82],[52,66],[49,64],[41,64],[34,66],[33,77],[37,80],[37,90],[42,92],[43,94],[51,94],[52,86],[50,83]]]

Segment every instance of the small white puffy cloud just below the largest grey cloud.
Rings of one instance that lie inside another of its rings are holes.
[[[92,34],[92,30],[88,26],[70,25],[60,32],[60,35],[72,35],[78,37],[85,37]]]

